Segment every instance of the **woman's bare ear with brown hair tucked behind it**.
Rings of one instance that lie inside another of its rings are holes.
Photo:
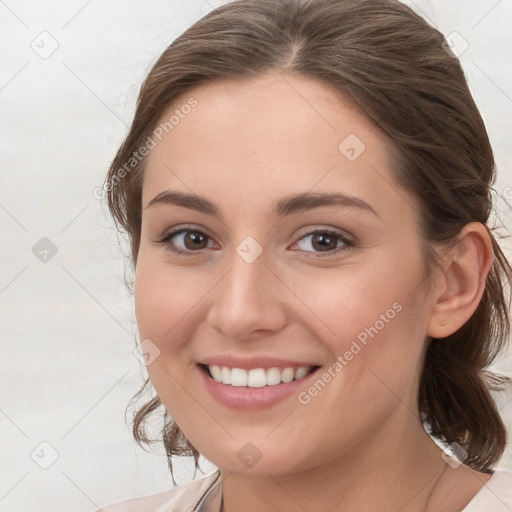
[[[458,244],[443,257],[443,271],[432,296],[427,324],[429,336],[445,338],[471,318],[484,293],[492,261],[487,227],[480,222],[466,224]]]

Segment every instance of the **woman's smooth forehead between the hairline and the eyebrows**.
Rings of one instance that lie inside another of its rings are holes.
[[[312,190],[359,196],[378,209],[391,193],[405,193],[383,133],[350,97],[311,78],[272,72],[213,82],[174,101],[159,126],[171,116],[146,162],[143,204],[168,188],[214,193],[229,206],[249,196],[261,208]]]

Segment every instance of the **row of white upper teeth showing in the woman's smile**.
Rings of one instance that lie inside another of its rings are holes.
[[[287,383],[301,379],[307,375],[312,366],[300,366],[299,368],[228,368],[227,366],[210,365],[208,369],[217,382],[231,384],[237,387],[262,388],[275,386],[281,382]]]

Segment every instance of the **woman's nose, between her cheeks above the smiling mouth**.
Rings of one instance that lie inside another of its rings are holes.
[[[232,341],[283,329],[289,320],[287,304],[293,298],[279,271],[269,265],[265,250],[251,261],[241,246],[230,255],[228,270],[212,290],[207,315],[208,324]]]

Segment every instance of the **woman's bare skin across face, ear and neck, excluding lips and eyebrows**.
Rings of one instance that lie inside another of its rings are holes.
[[[460,511],[490,475],[446,464],[422,427],[417,389],[427,335],[453,333],[480,301],[492,262],[485,227],[464,227],[427,294],[417,202],[393,178],[389,141],[349,98],[271,72],[192,89],[161,120],[191,96],[197,106],[146,162],[135,304],[140,339],[160,351],[151,381],[190,442],[221,468],[223,510],[423,512],[430,496],[428,510]],[[350,134],[366,147],[354,161],[338,149]],[[224,221],[147,207],[167,189],[205,196]],[[274,200],[310,191],[350,194],[378,216],[341,206],[271,216]],[[192,256],[155,242],[184,224],[208,235],[199,249],[174,236]],[[334,253],[344,247],[335,238],[322,248],[307,236],[322,228],[356,246]],[[252,263],[236,252],[247,236],[263,248]],[[293,395],[240,412],[198,379],[196,362],[219,353],[325,371],[394,303],[401,311],[306,405]],[[237,457],[248,442],[262,455],[252,467]]]

